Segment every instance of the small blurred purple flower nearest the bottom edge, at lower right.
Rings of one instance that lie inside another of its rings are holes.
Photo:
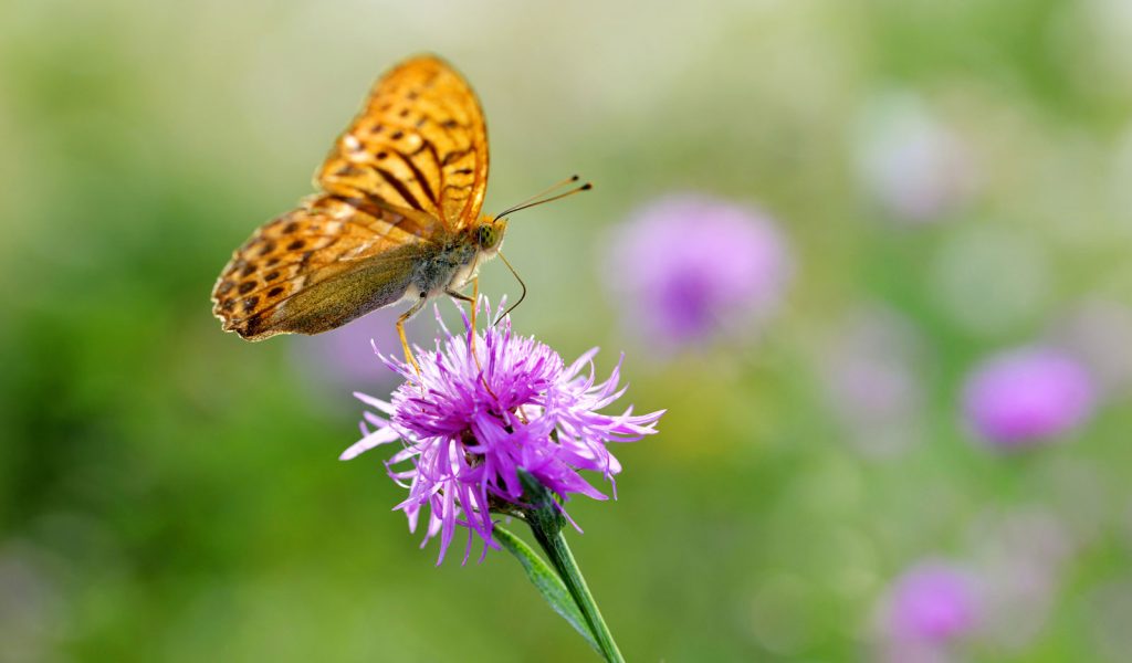
[[[886,639],[942,645],[969,635],[979,618],[971,577],[942,561],[925,561],[897,578],[885,601]]]

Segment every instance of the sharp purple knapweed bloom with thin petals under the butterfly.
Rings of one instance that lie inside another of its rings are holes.
[[[415,531],[428,507],[424,543],[440,536],[437,563],[457,525],[469,529],[465,561],[473,534],[483,540],[484,553],[497,546],[491,511],[522,506],[520,468],[563,500],[572,493],[606,499],[578,471],[599,472],[612,483],[621,466],[607,444],[655,432],[663,412],[598,412],[625,388],[618,388],[619,363],[608,379],[595,380],[597,348],[566,365],[547,345],[514,334],[509,319],[483,333],[475,333],[466,317],[463,334],[453,335],[443,322],[440,327],[436,351],[417,348],[419,376],[401,359],[379,355],[405,381],[388,403],[355,394],[376,412],[365,413],[362,439],[342,454],[345,460],[402,441],[386,462],[389,476],[409,489],[395,508]]]

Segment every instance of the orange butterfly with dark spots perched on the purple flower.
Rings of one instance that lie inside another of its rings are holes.
[[[334,144],[315,174],[319,192],[233,252],[213,289],[213,313],[224,330],[259,341],[319,334],[411,300],[396,326],[415,365],[405,321],[432,296],[474,302],[461,290],[499,255],[504,217],[561,197],[481,216],[487,180],[475,93],[439,58],[406,60],[378,79]]]

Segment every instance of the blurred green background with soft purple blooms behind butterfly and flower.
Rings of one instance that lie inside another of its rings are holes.
[[[0,660],[593,658],[337,460],[391,313],[211,313],[421,51],[486,212],[595,183],[506,248],[520,330],[669,410],[571,502],[628,660],[1127,660],[1129,44],[1124,0],[0,5]]]

